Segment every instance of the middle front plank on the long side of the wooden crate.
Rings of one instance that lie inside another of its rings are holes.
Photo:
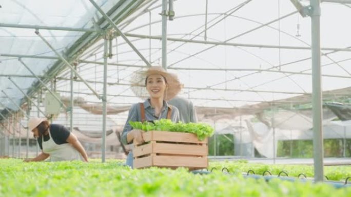
[[[154,143],[152,152],[156,154],[174,154],[190,156],[207,156],[208,149],[206,145],[192,144],[170,144]]]

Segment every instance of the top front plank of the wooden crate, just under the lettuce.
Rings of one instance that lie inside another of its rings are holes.
[[[184,143],[198,143],[207,144],[207,138],[203,141],[198,140],[195,134],[181,133],[181,132],[160,132],[152,130],[143,133],[143,139],[149,141],[164,141],[164,142],[184,142]]]

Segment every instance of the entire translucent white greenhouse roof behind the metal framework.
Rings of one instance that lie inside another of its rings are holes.
[[[140,55],[89,1],[2,2],[0,108],[16,111],[16,105],[27,102],[22,91],[33,102],[42,100],[47,89],[69,97],[70,68],[59,55],[79,73],[74,97],[101,103],[104,37],[112,44],[108,104],[141,101],[130,89],[131,74],[147,62],[162,64],[162,1],[95,3]],[[343,22],[351,17],[350,3],[321,4],[322,91],[329,100],[349,95],[351,29]],[[184,83],[181,96],[196,106],[264,109],[271,103],[310,102],[311,21],[290,1],[178,0],[174,12],[167,24],[168,70]]]

